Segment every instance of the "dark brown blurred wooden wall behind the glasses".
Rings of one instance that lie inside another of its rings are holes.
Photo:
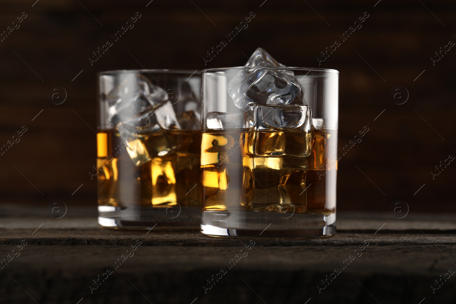
[[[0,156],[1,202],[96,204],[88,173],[95,165],[96,72],[239,66],[258,46],[285,65],[318,67],[320,52],[368,12],[321,64],[340,71],[339,146],[369,128],[339,161],[337,206],[389,211],[399,199],[410,211],[456,211],[456,164],[431,175],[456,155],[456,47],[434,66],[430,59],[456,41],[454,1],[35,1],[0,3],[0,31],[27,14],[0,42],[0,146],[27,128]],[[136,12],[135,27],[91,66],[92,52]],[[248,28],[205,66],[207,51],[250,12]],[[56,85],[67,91],[60,105],[47,97]],[[409,92],[401,105],[389,98],[398,85]]]

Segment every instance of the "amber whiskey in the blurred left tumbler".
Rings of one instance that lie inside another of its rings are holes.
[[[200,130],[137,134],[130,141],[114,130],[100,131],[98,205],[199,208],[200,143]]]

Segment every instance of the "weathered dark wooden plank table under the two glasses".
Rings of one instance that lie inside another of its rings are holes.
[[[249,240],[100,228],[96,207],[1,205],[0,303],[455,303],[455,215],[394,216],[339,212],[335,237],[242,253]]]

